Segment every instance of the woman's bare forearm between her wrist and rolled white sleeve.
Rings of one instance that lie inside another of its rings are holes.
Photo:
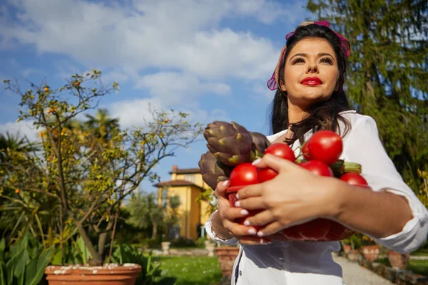
[[[337,180],[332,182],[332,189],[332,218],[371,237],[388,237],[401,232],[412,219],[412,210],[404,197]]]

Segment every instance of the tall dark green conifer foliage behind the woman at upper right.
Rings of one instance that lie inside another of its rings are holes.
[[[414,190],[428,166],[427,0],[309,0],[351,44],[347,95]]]

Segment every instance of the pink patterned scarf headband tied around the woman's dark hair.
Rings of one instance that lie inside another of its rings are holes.
[[[327,21],[310,21],[310,22],[303,22],[299,26],[307,26],[310,24],[315,24],[318,26],[326,26],[327,28],[330,28],[330,24],[328,24]],[[331,28],[330,28],[331,29]],[[287,36],[285,36],[285,39],[288,40],[292,35],[294,35],[295,31],[292,31],[290,33],[287,33]],[[350,42],[345,38],[345,36],[342,36],[340,33],[336,33],[333,31],[337,37],[340,38],[340,42],[342,43],[342,50],[346,57],[350,56],[351,53],[351,46]],[[277,62],[277,66],[275,68],[275,71],[273,71],[272,77],[267,81],[267,88],[270,90],[276,90],[278,88],[279,84],[279,78],[280,78],[280,66],[282,63],[282,59],[285,55],[285,51],[287,51],[287,46],[284,46],[281,50],[281,56],[280,60]]]

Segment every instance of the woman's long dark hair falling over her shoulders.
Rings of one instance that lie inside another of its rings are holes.
[[[295,140],[300,140],[300,143],[304,142],[303,136],[309,130],[312,130],[313,132],[316,132],[317,130],[333,130],[338,131],[342,136],[345,136],[350,130],[349,121],[339,114],[342,111],[350,110],[345,91],[342,88],[346,78],[347,58],[342,51],[340,39],[332,30],[330,30],[330,28],[327,28],[326,26],[318,26],[316,24],[299,26],[296,28],[295,33],[287,40],[287,50],[285,51],[285,55],[282,57],[282,63],[279,71],[280,81],[284,78],[285,61],[288,54],[296,43],[304,38],[324,38],[330,43],[335,51],[337,66],[339,68],[339,88],[337,91],[335,90],[327,100],[312,105],[309,110],[310,115],[307,118],[291,125],[290,130],[293,133],[292,138],[285,140],[288,144],[292,144]],[[275,98],[273,98],[270,108],[272,133],[278,133],[281,130],[287,129],[289,124],[287,92],[280,89],[280,83],[277,83],[277,86],[278,88],[275,93]],[[344,123],[344,130],[340,130],[339,121]]]

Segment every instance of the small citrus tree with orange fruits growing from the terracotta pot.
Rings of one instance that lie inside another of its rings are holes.
[[[41,130],[41,151],[24,157],[31,163],[8,162],[1,187],[58,201],[62,264],[66,225],[76,229],[90,254],[88,264],[81,264],[78,270],[76,266],[49,266],[47,279],[61,275],[60,282],[76,280],[68,273],[78,271],[85,276],[121,275],[125,271],[138,274],[140,266],[110,264],[119,207],[143,180],[158,180],[154,167],[173,156],[177,147],[188,147],[195,141],[202,133],[201,125],[188,123],[185,113],[149,108],[151,118],[144,127],[121,130],[118,120],[109,118],[105,110],[96,116],[87,114],[104,95],[118,91],[118,83],[104,86],[101,72],[96,70],[72,76],[58,90],[46,81],[39,86],[31,84],[26,91],[17,83],[4,82],[7,89],[21,96],[19,120],[32,122]],[[77,120],[85,113],[86,123]],[[34,169],[37,175],[31,175]]]

